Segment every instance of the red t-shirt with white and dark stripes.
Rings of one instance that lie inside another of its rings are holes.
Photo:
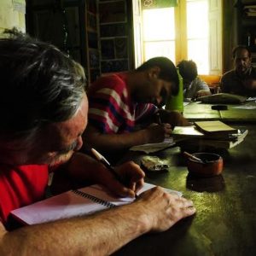
[[[152,115],[151,103],[133,102],[127,88],[127,73],[116,73],[97,79],[88,91],[88,119],[99,131],[117,134],[134,131],[139,119]]]

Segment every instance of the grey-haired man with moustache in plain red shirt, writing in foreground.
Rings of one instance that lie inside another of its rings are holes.
[[[77,152],[87,125],[83,68],[54,46],[13,33],[0,39],[0,255],[109,255],[195,213],[191,201],[154,188],[134,203],[90,217],[7,230],[10,211],[44,198],[53,169],[123,196],[134,196],[144,177],[133,162],[115,168],[130,181],[125,187]]]

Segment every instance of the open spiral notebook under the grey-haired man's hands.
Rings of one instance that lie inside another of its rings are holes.
[[[139,195],[154,186],[154,184],[145,183],[143,189],[137,194]],[[182,196],[182,193],[176,190],[166,189],[166,192]],[[125,205],[132,201],[134,199],[130,197],[115,197],[102,186],[92,185],[82,189],[69,190],[27,207],[15,209],[11,212],[11,215],[22,224],[40,224],[61,218],[89,215],[93,212]]]

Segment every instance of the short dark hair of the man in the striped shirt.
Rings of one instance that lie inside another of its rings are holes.
[[[172,95],[176,96],[178,93],[178,76],[173,62],[166,57],[154,57],[137,67],[136,72],[145,71],[152,67],[160,67],[159,79],[173,82]]]

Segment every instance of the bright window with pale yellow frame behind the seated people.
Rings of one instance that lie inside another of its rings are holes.
[[[200,74],[222,72],[221,0],[179,0],[177,7],[143,9],[141,16],[141,63],[163,55],[175,64],[195,61]]]

